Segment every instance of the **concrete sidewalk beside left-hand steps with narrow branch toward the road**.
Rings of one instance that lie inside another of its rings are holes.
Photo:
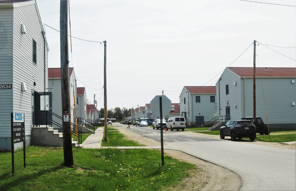
[[[118,148],[118,149],[134,149],[134,148],[146,148],[146,149],[161,149],[161,146],[139,146],[139,147],[102,147],[102,139],[104,137],[104,127],[99,127],[95,130],[94,134],[89,135],[87,139],[81,144],[82,148]]]

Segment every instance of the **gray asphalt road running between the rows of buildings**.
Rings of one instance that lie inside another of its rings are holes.
[[[160,130],[133,125],[129,130],[160,142]],[[164,149],[180,150],[235,172],[241,177],[241,190],[296,190],[295,149],[250,144],[247,140],[233,142],[226,138],[163,131]]]

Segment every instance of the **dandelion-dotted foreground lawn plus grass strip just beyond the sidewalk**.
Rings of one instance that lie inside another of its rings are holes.
[[[109,145],[138,145],[116,129],[108,130]],[[24,168],[23,150],[19,149],[14,177],[11,152],[0,153],[0,190],[169,190],[188,177],[189,170],[200,171],[169,156],[164,156],[162,166],[160,150],[75,148],[72,152],[75,167],[67,168],[63,148],[29,146]]]

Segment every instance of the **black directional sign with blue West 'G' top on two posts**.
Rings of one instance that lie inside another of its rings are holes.
[[[25,143],[25,114],[11,113],[11,158],[12,176],[15,175],[15,143],[23,142],[24,168],[26,168],[26,143]]]

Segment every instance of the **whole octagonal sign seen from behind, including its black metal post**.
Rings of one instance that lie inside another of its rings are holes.
[[[156,95],[150,101],[151,111],[160,116],[160,143],[161,143],[161,165],[164,166],[164,139],[163,139],[163,127],[162,116],[168,114],[172,110],[172,102],[165,95]]]

